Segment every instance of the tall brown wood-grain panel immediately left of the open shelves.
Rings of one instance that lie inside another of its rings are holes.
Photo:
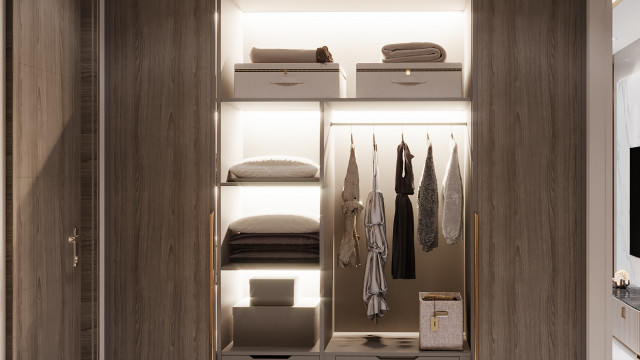
[[[108,358],[210,356],[212,4],[106,14]]]

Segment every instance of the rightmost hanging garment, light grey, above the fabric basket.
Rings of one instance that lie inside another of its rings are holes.
[[[453,141],[451,159],[442,183],[442,234],[447,244],[455,244],[462,238],[462,210],[464,208],[462,176],[458,163],[458,144]]]

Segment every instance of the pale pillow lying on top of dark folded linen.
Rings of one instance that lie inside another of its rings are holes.
[[[319,217],[299,214],[255,215],[229,224],[229,230],[241,233],[310,233],[320,231]]]

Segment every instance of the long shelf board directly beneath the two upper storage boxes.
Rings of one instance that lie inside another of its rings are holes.
[[[319,111],[328,103],[337,111],[464,111],[470,98],[325,98],[325,99],[222,99],[243,111]]]

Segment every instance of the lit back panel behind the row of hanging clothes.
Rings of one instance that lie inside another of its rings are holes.
[[[446,114],[429,115],[429,112],[408,113],[408,112],[388,112],[375,114],[365,114],[368,119],[377,121],[387,121],[395,119],[397,121],[410,121],[415,117],[416,121],[433,119],[438,121]],[[362,116],[362,115],[360,115]],[[456,121],[465,121],[465,112],[455,112],[449,114],[457,118]],[[348,119],[356,120],[356,113],[349,112],[335,114],[334,117],[344,122]],[[419,120],[420,119],[420,120]],[[344,215],[340,204],[342,204],[341,191],[344,184],[348,159],[350,134],[353,131],[354,143],[356,145],[356,157],[360,174],[360,199],[365,203],[368,193],[371,191],[372,182],[372,135],[371,126],[354,126],[353,130],[349,126],[338,126],[332,129],[335,145],[335,203],[334,216],[335,248],[338,249],[344,231]],[[397,279],[391,277],[392,249],[393,249],[393,217],[395,211],[395,171],[396,171],[396,149],[400,144],[404,131],[405,142],[409,145],[411,153],[415,156],[412,161],[415,177],[415,194],[409,196],[413,205],[414,222],[414,248],[416,263],[416,279]],[[438,179],[439,189],[439,246],[431,252],[424,252],[417,238],[417,190],[424,170],[427,156],[427,131],[433,142],[433,156]],[[364,264],[367,258],[366,239],[364,231],[364,215],[357,219],[357,231],[360,235],[360,258],[362,266],[357,269],[343,269],[335,266],[335,331],[392,331],[392,332],[416,332],[418,331],[419,302],[418,293],[421,291],[455,291],[463,296],[465,293],[465,245],[464,239],[455,245],[448,245],[442,236],[442,226],[440,223],[442,216],[442,181],[447,163],[450,158],[450,136],[453,135],[458,143],[458,154],[460,160],[460,171],[463,181],[469,176],[468,172],[468,139],[466,126],[379,126],[375,128],[376,143],[378,144],[378,159],[380,168],[380,190],[384,195],[386,210],[387,242],[389,244],[388,262],[385,267],[388,292],[386,296],[389,312],[386,313],[377,324],[366,317],[366,310],[362,301],[362,287],[364,278]],[[468,183],[467,181],[465,181]],[[465,191],[469,190],[465,188]],[[465,194],[465,196],[467,196]],[[336,258],[333,259],[334,264]]]

